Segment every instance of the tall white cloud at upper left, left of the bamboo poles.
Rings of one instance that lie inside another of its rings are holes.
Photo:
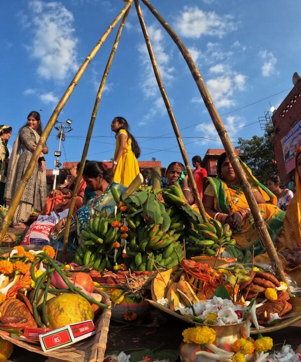
[[[74,37],[73,15],[60,2],[29,2],[31,30],[33,39],[28,49],[38,60],[38,74],[45,79],[64,80],[69,71],[75,71],[77,65]],[[26,26],[27,27],[27,26]]]

